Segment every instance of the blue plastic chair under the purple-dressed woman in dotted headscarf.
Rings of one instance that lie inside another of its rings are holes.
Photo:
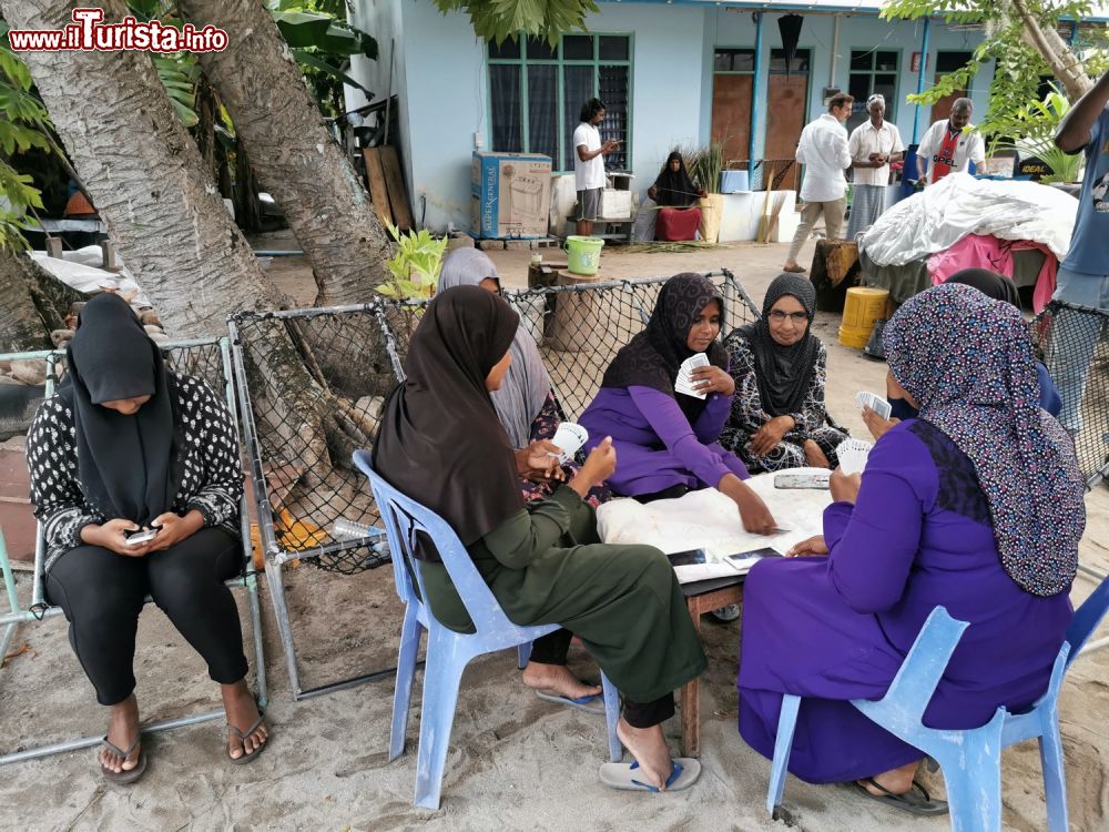
[[[892,734],[939,763],[954,832],[995,832],[1001,829],[1001,749],[1038,739],[1048,829],[1050,832],[1067,832],[1059,689],[1067,669],[1107,610],[1109,578],[1075,612],[1051,669],[1047,692],[1026,713],[1014,714],[998,708],[985,726],[966,731],[940,730],[923,724],[922,717],[932,701],[936,684],[968,626],[966,621],[953,619],[943,607],[936,607],[924,622],[886,694],[877,701],[853,699],[851,703]],[[783,697],[766,794],[766,810],[772,815],[782,803],[800,707],[800,697]]]

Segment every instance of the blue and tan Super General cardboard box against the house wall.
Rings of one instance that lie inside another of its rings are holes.
[[[475,151],[471,171],[475,236],[547,236],[550,156]]]

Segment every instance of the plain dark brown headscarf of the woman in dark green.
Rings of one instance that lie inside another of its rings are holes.
[[[385,402],[374,467],[442,517],[469,546],[523,508],[516,459],[485,381],[520,317],[498,295],[456,286],[436,295]],[[421,548],[425,559],[438,559]]]

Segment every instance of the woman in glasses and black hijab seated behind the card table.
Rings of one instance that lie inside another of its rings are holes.
[[[720,444],[752,470],[834,468],[847,438],[825,425],[827,353],[812,333],[816,290],[780,274],[766,290],[762,317],[724,339],[735,398]]]

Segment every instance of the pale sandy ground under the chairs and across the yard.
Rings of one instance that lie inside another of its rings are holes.
[[[260,247],[295,247],[267,235]],[[650,276],[726,266],[761,302],[777,273],[784,246],[739,245],[690,254],[609,251],[607,277]],[[811,248],[802,254],[807,262]],[[526,281],[528,252],[499,252],[509,285]],[[302,303],[314,294],[302,258],[278,258],[271,275]],[[828,345],[828,404],[852,432],[863,435],[854,413],[856,390],[881,392],[885,365],[868,362],[835,341],[838,319],[821,314],[816,332]],[[1109,489],[1087,498],[1089,522],[1083,562],[1109,568]],[[20,592],[29,592],[26,574]],[[390,569],[355,578],[311,567],[284,574],[301,650],[302,683],[308,688],[390,667],[400,610]],[[1076,603],[1093,588],[1080,576]],[[326,829],[326,830],[756,830],[792,826],[810,832],[948,829],[946,819],[914,820],[861,800],[842,787],[812,787],[791,779],[788,823],[763,808],[770,764],[735,730],[735,662],[739,623],[705,622],[710,657],[701,692],[704,773],[691,790],[670,795],[625,794],[603,788],[603,720],[540,702],[518,681],[509,652],[475,661],[464,680],[444,782],[442,808],[413,806],[418,693],[407,753],[387,761],[393,683],[386,680],[294,703],[268,599],[264,632],[271,683],[272,744],[255,764],[233,767],[223,758],[218,722],[151,735],[151,768],[130,789],[105,784],[93,752],[82,750],[6,767],[0,778],[0,829]],[[241,608],[244,605],[241,602]],[[1105,633],[1105,628],[1100,635]],[[14,646],[33,650],[0,672],[0,749],[4,752],[57,742],[103,729],[104,712],[70,652],[64,622],[27,626]],[[580,651],[571,661],[590,672]],[[217,692],[196,655],[164,616],[147,608],[136,659],[144,718],[176,717],[217,707]],[[1075,830],[1107,828],[1109,788],[1109,650],[1078,661],[1062,694],[1062,733]],[[419,682],[420,679],[417,679]],[[668,724],[676,745],[678,726]],[[942,793],[938,778],[926,778]],[[1031,743],[1004,758],[1006,829],[1046,826],[1039,758]]]

